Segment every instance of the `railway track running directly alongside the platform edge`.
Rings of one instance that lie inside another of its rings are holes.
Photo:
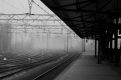
[[[53,67],[51,67],[50,69],[46,70],[44,73],[38,75],[37,77],[35,77],[32,80],[45,80],[45,78],[47,78],[47,80],[48,80],[48,77],[47,77],[48,75],[53,74],[54,71],[58,71],[59,68],[64,66],[64,64],[67,64],[67,66],[68,66],[70,63],[72,63],[79,56],[80,56],[80,54],[76,54],[76,55],[72,54],[70,56],[65,57],[65,59],[63,59],[59,63],[53,65]],[[44,79],[43,79],[43,77],[44,77]],[[51,79],[49,78],[49,80],[51,80]]]

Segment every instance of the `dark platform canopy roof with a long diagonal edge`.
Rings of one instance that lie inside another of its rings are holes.
[[[95,38],[120,23],[121,0],[41,0],[80,37]],[[118,27],[120,28],[120,27]]]

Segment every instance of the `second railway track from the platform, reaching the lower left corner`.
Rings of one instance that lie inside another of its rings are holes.
[[[34,63],[30,63],[30,64],[26,64],[26,65],[20,65],[20,66],[14,66],[14,67],[10,67],[10,68],[7,68],[7,69],[3,69],[3,70],[0,71],[0,80],[4,79],[6,77],[10,77],[10,76],[17,74],[19,72],[32,69],[36,66],[43,65],[43,64],[46,64],[46,63],[49,63],[49,62],[52,62],[52,61],[56,61],[57,59],[59,59],[62,56],[63,55],[56,55],[56,56],[52,56],[52,57],[49,57],[47,59],[40,60],[40,61],[37,61],[37,62],[34,62]]]

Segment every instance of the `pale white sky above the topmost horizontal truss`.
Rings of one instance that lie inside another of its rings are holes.
[[[53,13],[40,0],[34,0],[34,1],[50,14]],[[28,0],[0,0],[0,13],[19,14],[19,13],[28,13],[28,12],[29,12]],[[35,4],[33,4],[32,13],[46,14]]]

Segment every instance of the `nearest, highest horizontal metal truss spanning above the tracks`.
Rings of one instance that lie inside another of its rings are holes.
[[[1,21],[62,21],[56,17],[54,14],[0,14]]]

